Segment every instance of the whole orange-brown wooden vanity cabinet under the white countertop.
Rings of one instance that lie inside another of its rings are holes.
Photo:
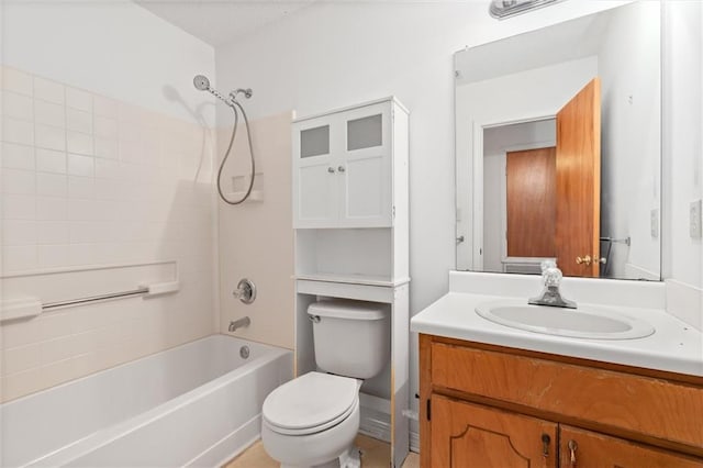
[[[703,467],[703,378],[420,335],[421,466]]]

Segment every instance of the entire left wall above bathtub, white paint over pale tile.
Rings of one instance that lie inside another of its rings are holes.
[[[1,299],[75,299],[175,275],[172,264],[94,269],[114,265],[175,260],[181,281],[168,297],[2,323],[0,400],[11,400],[216,330],[202,126],[213,112],[192,88],[196,73],[212,75],[214,51],[132,2],[3,7]]]

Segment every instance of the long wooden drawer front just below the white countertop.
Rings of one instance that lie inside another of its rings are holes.
[[[432,344],[432,382],[703,447],[701,388],[443,343]]]

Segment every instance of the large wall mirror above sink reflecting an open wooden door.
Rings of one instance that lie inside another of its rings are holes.
[[[660,8],[455,55],[457,269],[660,279]]]

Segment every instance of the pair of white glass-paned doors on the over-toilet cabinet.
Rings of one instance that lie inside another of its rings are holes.
[[[294,227],[392,226],[392,105],[294,122]]]

